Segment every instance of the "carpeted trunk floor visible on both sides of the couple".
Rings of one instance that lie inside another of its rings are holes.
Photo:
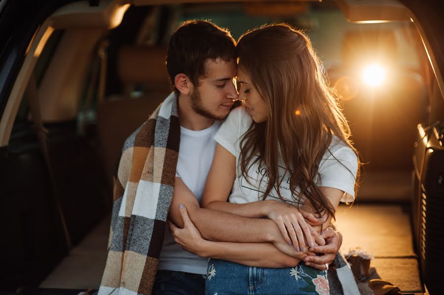
[[[341,205],[336,226],[342,232],[342,253],[360,247],[374,255],[370,266],[405,293],[421,293],[418,262],[413,252],[409,217],[397,205]],[[110,217],[74,247],[41,288],[97,289],[107,258]]]

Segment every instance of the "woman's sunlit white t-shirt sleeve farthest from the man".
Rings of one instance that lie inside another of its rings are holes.
[[[318,186],[343,191],[341,202],[352,202],[355,199],[358,158],[352,149],[343,145],[333,151],[327,151],[319,168],[321,181]]]

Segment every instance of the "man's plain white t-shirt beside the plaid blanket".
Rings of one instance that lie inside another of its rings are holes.
[[[213,137],[221,124],[222,122],[216,121],[211,127],[200,131],[181,127],[176,176],[182,178],[199,203],[216,149],[216,141]],[[174,241],[167,227],[158,269],[206,274],[207,262],[207,258],[201,258],[182,249]]]

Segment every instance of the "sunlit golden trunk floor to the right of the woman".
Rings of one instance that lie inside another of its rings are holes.
[[[342,253],[360,247],[375,257],[370,267],[405,293],[422,293],[418,261],[413,251],[409,215],[401,206],[341,205],[336,214]]]

